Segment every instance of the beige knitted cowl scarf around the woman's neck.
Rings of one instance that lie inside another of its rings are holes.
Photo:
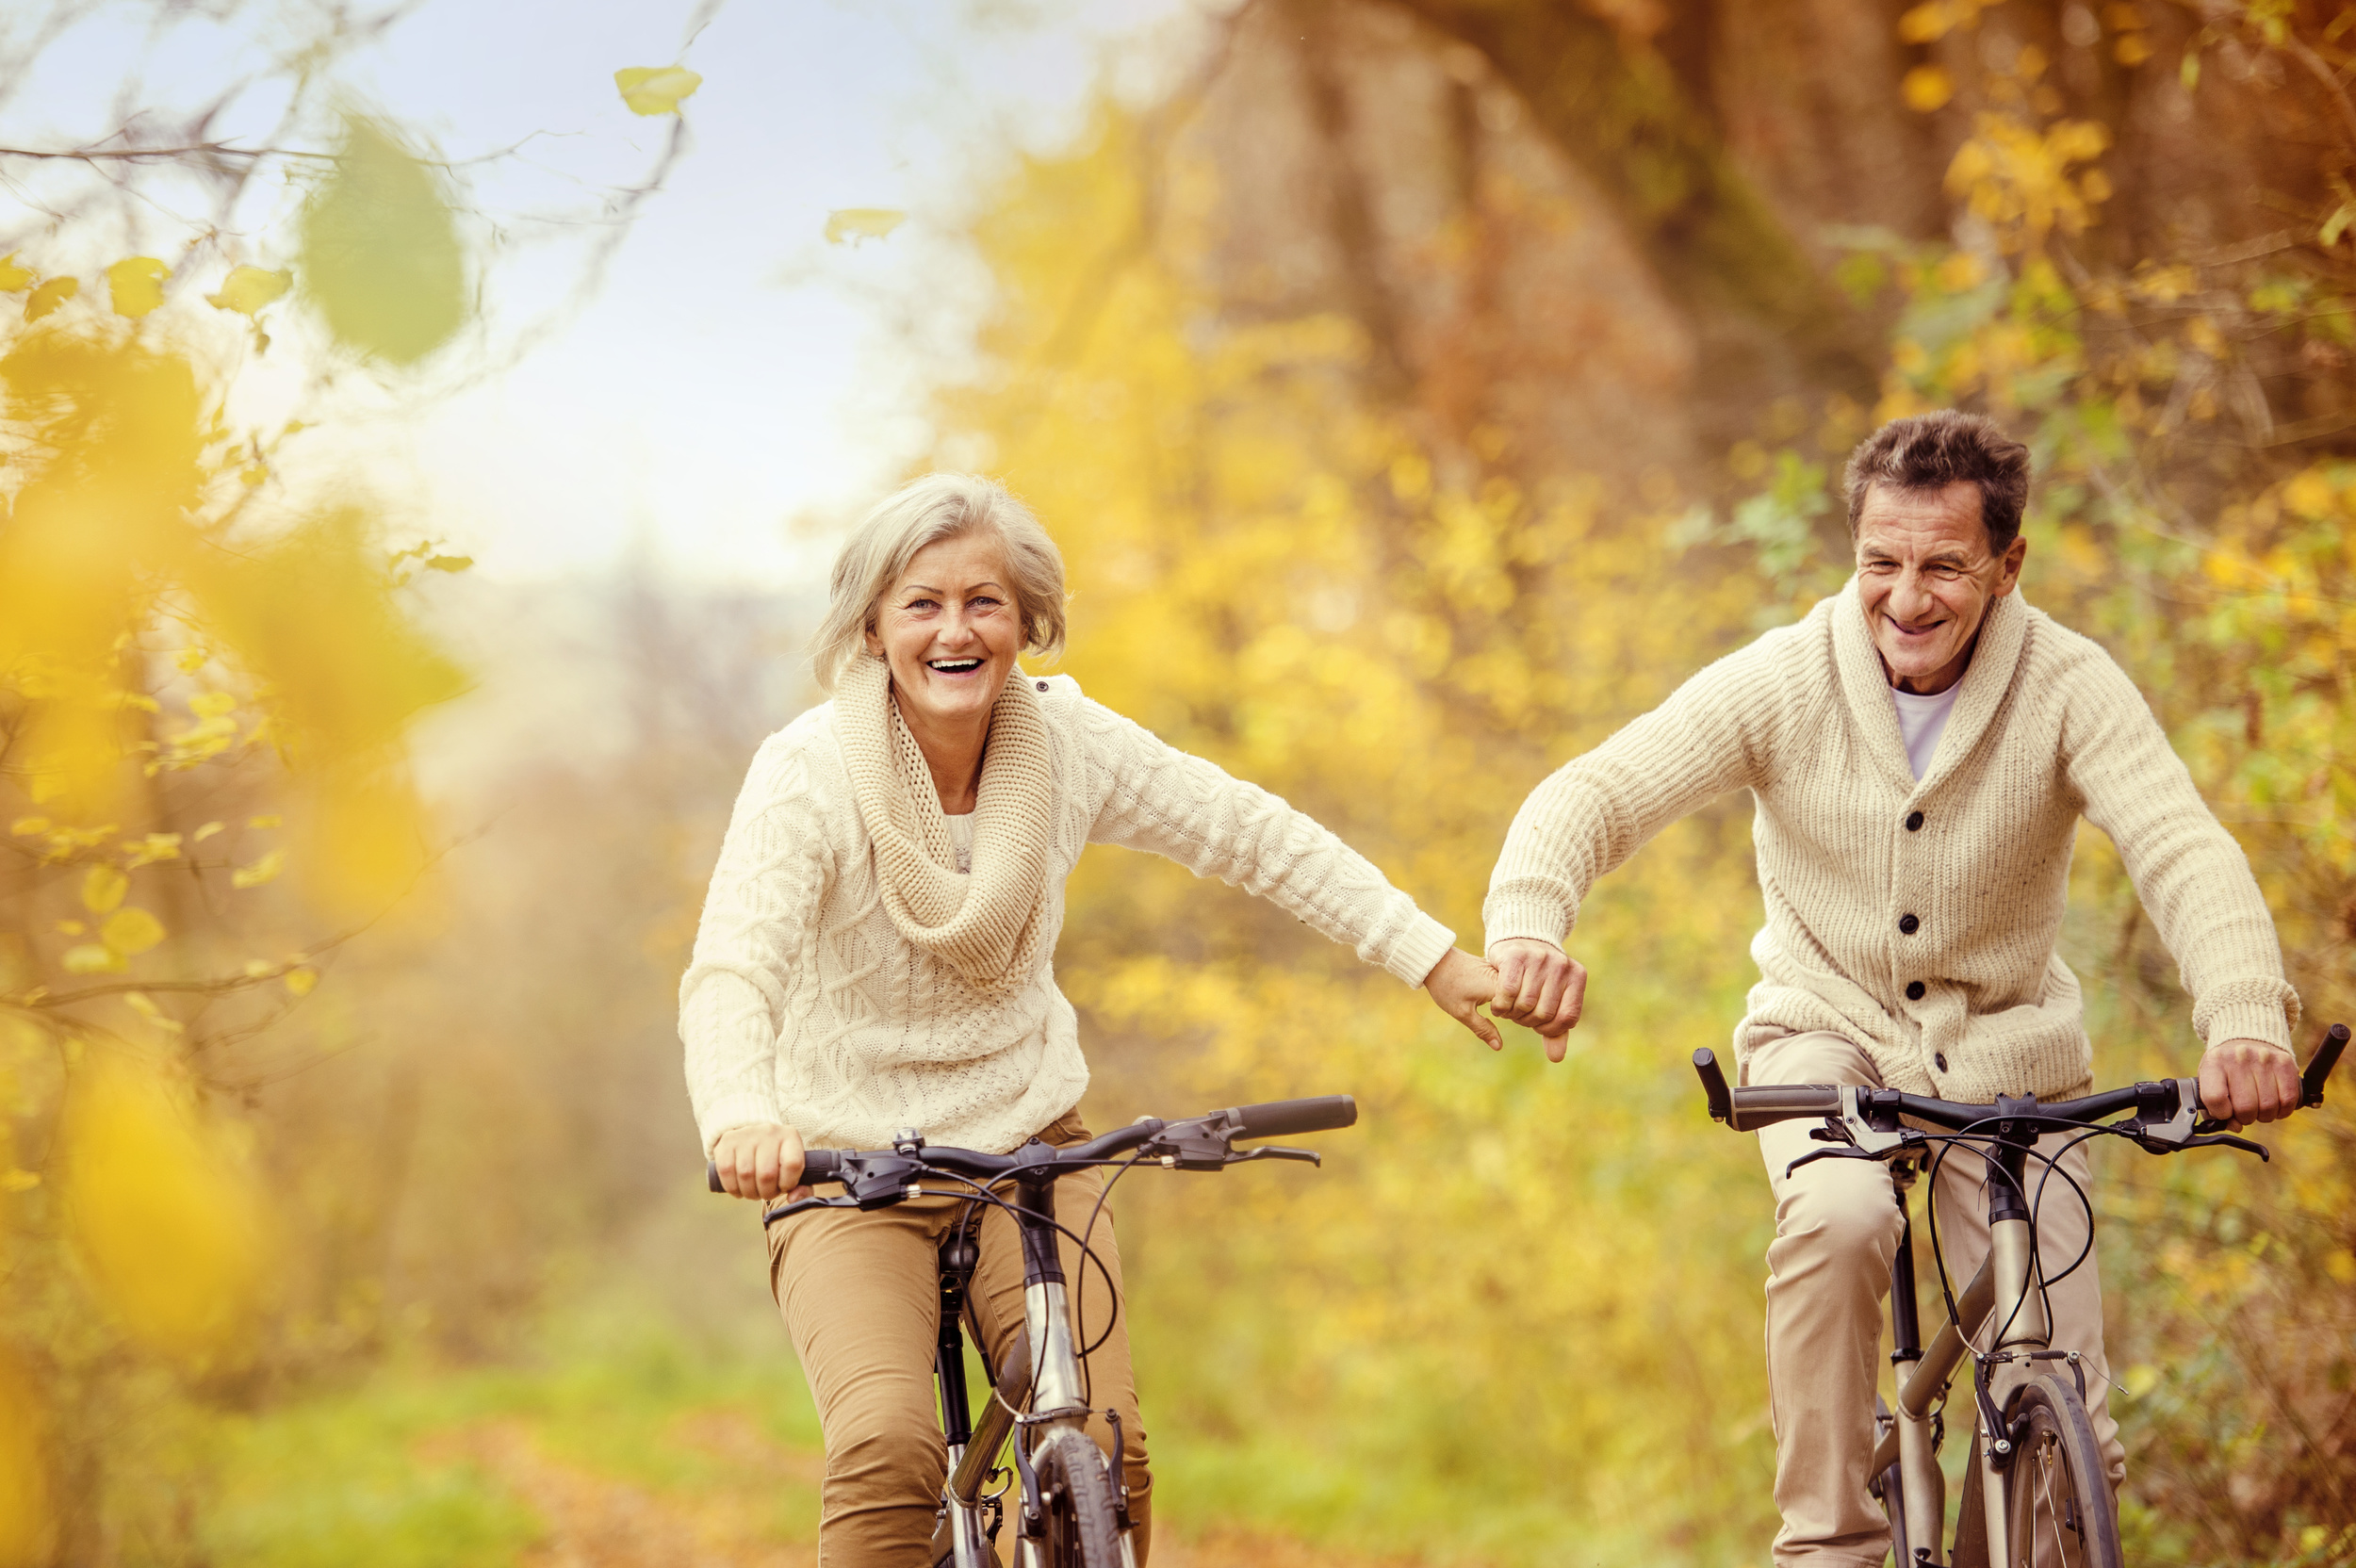
[[[982,996],[1020,991],[1039,961],[1055,812],[1046,720],[1032,683],[1013,671],[990,709],[971,876],[957,871],[949,819],[893,702],[891,666],[876,655],[853,657],[836,680],[834,711],[893,925]]]

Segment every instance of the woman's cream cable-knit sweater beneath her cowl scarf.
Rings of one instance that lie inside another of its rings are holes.
[[[893,925],[836,704],[763,742],[679,982],[707,1151],[728,1128],[768,1121],[813,1147],[879,1149],[916,1128],[940,1144],[1011,1151],[1072,1109],[1088,1064],[1053,951],[1063,885],[1088,843],[1154,850],[1246,888],[1407,984],[1423,984],[1456,942],[1265,789],[1088,702],[1070,676],[1015,678],[1039,692],[1053,829],[1046,925],[1027,982],[1004,996],[982,996]]]

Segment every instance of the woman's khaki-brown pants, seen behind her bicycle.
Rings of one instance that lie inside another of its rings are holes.
[[[1051,1144],[1086,1142],[1077,1114],[1041,1132]],[[1072,1231],[1088,1224],[1088,1210],[1105,1175],[1088,1170],[1055,1182],[1055,1217]],[[794,1335],[794,1351],[818,1401],[827,1441],[827,1479],[820,1488],[820,1568],[919,1568],[928,1566],[933,1509],[949,1476],[949,1453],[940,1439],[940,1403],[933,1396],[933,1349],[940,1333],[940,1241],[966,1208],[961,1198],[909,1198],[860,1212],[822,1208],[768,1227],[768,1281]],[[1008,1342],[1023,1330],[1023,1238],[1006,1210],[985,1210],[982,1262],[973,1271],[971,1314],[990,1366],[999,1366]],[[1096,1217],[1088,1248],[1112,1271],[1081,1269],[1079,1245],[1063,1238],[1063,1274],[1079,1302],[1081,1344],[1105,1337],[1121,1297],[1121,1257],[1112,1243],[1112,1205]],[[1129,1479],[1133,1544],[1145,1563],[1152,1514],[1152,1476],[1145,1469],[1145,1424],[1129,1375],[1129,1318],[1086,1361],[1088,1401],[1121,1413],[1121,1455]],[[990,1398],[971,1389],[975,1415]],[[1112,1427],[1088,1424],[1105,1455]],[[999,1549],[1011,1556],[1011,1516],[999,1530]]]

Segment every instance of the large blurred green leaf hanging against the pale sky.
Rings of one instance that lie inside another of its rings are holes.
[[[346,125],[302,219],[297,273],[346,348],[415,365],[466,320],[466,259],[441,181],[370,120]]]

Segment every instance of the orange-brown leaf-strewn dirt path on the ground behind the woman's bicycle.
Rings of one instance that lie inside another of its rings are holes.
[[[818,1490],[815,1453],[785,1448],[735,1413],[679,1424],[681,1443],[728,1462],[723,1486],[681,1495],[615,1481],[554,1457],[523,1422],[488,1422],[431,1443],[462,1455],[516,1493],[547,1535],[521,1568],[815,1568],[818,1547],[777,1537],[775,1483]],[[813,1521],[815,1523],[815,1521]],[[1296,1540],[1213,1530],[1157,1540],[1152,1568],[1414,1568]]]

